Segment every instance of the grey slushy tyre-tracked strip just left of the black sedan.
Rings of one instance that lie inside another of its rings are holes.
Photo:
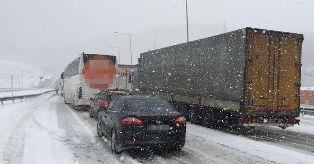
[[[74,110],[57,97],[57,119],[60,129],[66,133],[63,141],[73,151],[80,164],[136,164],[131,158],[112,155],[110,143],[99,138],[96,133],[96,120],[89,118],[86,112]],[[86,129],[88,128],[88,129]],[[91,132],[91,134],[89,133]]]

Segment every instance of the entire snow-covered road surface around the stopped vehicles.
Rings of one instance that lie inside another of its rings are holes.
[[[97,137],[97,121],[51,92],[0,106],[0,164],[310,164],[314,117],[300,119],[300,126],[257,128],[252,129],[257,132],[253,135],[188,123],[180,152],[112,155],[109,140]],[[275,137],[264,140],[261,131]]]

